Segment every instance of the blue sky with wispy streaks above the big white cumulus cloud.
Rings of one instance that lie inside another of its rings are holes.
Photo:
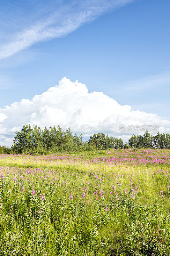
[[[0,108],[32,99],[66,76],[170,121],[169,0],[1,6]]]

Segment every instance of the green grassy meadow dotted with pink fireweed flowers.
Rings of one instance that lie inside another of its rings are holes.
[[[0,256],[170,255],[170,150],[0,155]]]

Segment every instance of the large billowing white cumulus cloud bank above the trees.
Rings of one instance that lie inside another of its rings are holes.
[[[59,124],[84,136],[104,132],[124,140],[133,132],[120,132],[121,124],[159,125],[160,132],[170,132],[170,121],[122,106],[103,92],[89,93],[85,84],[66,77],[32,100],[22,99],[0,109],[0,144],[10,145],[16,130],[28,123],[41,128]]]

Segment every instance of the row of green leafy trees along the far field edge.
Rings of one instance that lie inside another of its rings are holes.
[[[76,133],[72,135],[70,128],[62,130],[58,127],[45,127],[37,125],[23,125],[21,131],[16,132],[11,148],[0,146],[1,154],[50,154],[66,151],[90,151],[118,148],[161,148],[170,149],[170,134],[157,133],[155,136],[145,132],[144,135],[132,135],[129,143],[123,144],[122,139],[94,133],[88,141]]]

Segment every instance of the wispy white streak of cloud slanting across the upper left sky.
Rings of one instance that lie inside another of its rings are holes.
[[[0,45],[0,59],[10,57],[33,44],[66,36],[83,24],[95,20],[102,13],[111,11],[132,1],[135,0],[78,0],[70,1],[66,4],[59,1],[58,5],[50,1],[53,10],[50,10],[48,5],[48,12],[42,11],[47,7],[47,4],[43,2],[43,7],[41,6],[41,8],[37,9],[37,20],[35,19],[35,13],[32,16],[29,13],[28,18],[33,17],[33,21],[25,22],[24,26],[21,24],[21,27],[19,28],[18,26],[17,30],[11,29],[8,34],[4,33],[1,35],[3,43]],[[43,15],[40,15],[39,12]],[[18,12],[16,15],[18,15]],[[22,15],[22,13],[19,12],[19,15]],[[13,16],[14,19],[15,16]],[[24,20],[26,20],[26,17]]]

